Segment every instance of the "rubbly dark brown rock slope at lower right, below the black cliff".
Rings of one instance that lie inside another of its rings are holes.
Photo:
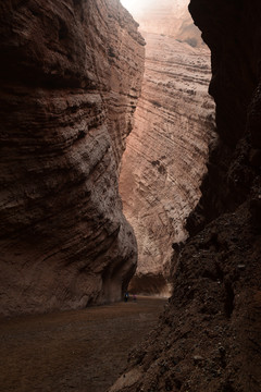
[[[259,391],[261,241],[246,207],[185,246],[169,306],[129,354],[124,392]]]

